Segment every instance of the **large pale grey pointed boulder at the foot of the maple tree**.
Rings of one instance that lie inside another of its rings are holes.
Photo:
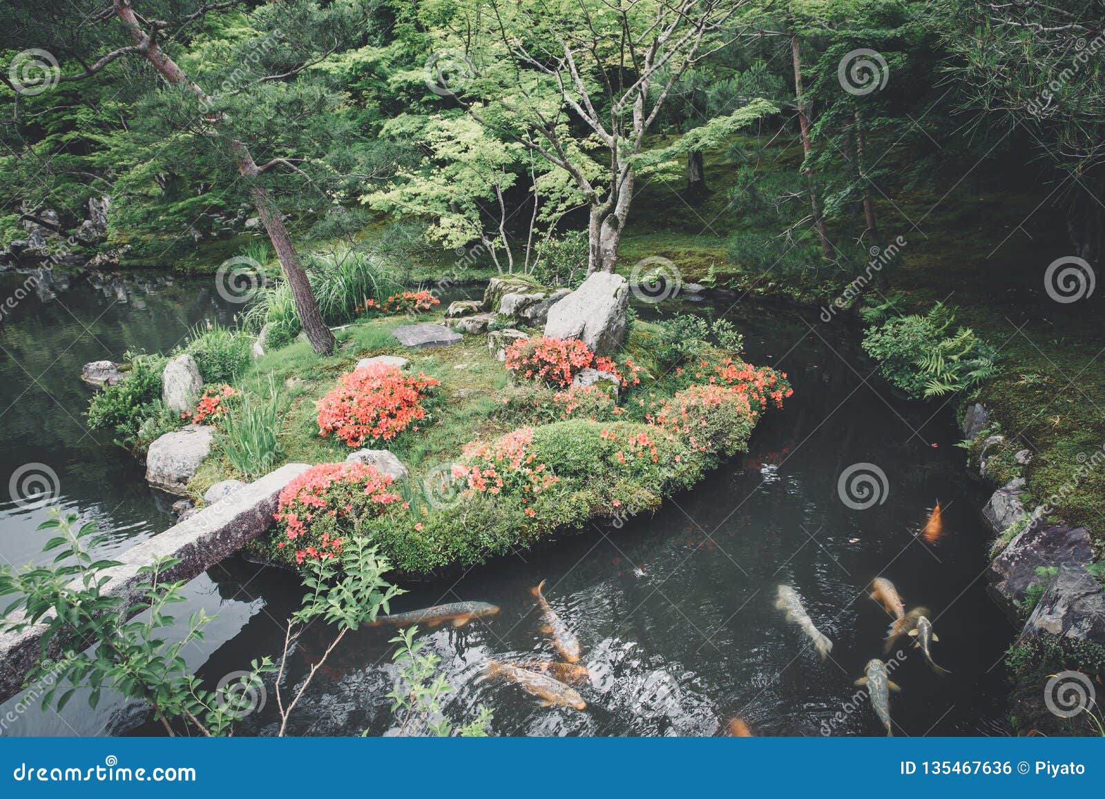
[[[629,284],[621,275],[596,272],[549,308],[545,335],[578,338],[594,353],[613,353],[625,337]]]

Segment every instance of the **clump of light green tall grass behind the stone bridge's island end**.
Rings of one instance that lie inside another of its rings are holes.
[[[248,480],[267,474],[280,458],[283,406],[276,376],[270,372],[264,395],[243,391],[241,402],[229,408],[219,424],[215,443]]]

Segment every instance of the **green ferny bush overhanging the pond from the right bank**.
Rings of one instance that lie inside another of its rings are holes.
[[[997,350],[969,327],[948,330],[955,314],[937,303],[924,316],[911,314],[869,327],[863,348],[880,372],[913,399],[965,391],[997,374]]]

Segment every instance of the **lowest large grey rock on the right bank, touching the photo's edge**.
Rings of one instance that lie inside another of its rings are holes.
[[[1044,633],[1105,644],[1105,589],[1081,566],[1061,566],[1024,623],[1021,638]]]

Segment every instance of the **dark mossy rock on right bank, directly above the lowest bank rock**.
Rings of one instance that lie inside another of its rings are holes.
[[[1011,613],[1024,599],[1029,586],[1039,581],[1041,566],[1084,567],[1093,560],[1085,527],[1049,525],[1036,519],[1009,543],[989,568],[991,589]]]

